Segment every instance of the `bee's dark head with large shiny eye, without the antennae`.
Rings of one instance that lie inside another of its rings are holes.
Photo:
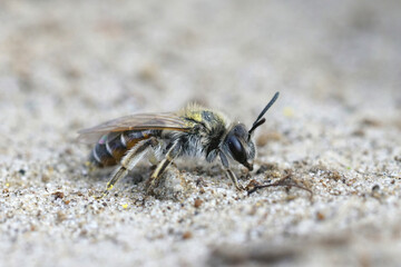
[[[255,158],[255,145],[245,125],[235,125],[227,134],[223,149],[236,161],[253,170]]]

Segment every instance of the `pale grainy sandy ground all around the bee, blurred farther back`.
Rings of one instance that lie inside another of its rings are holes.
[[[400,1],[0,2],[1,266],[400,266]],[[144,162],[101,200],[77,130],[197,101],[256,132],[236,191]],[[286,178],[284,181],[283,179]],[[312,191],[312,195],[301,186]]]

